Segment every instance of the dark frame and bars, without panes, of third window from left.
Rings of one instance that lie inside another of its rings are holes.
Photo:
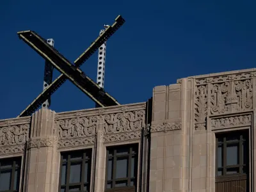
[[[122,149],[122,148],[128,148],[129,151],[127,154],[117,154],[116,151],[118,149]],[[109,151],[112,150],[113,151],[113,155],[109,155]],[[132,152],[132,150],[134,152]],[[127,177],[122,177],[122,178],[118,178],[116,179],[116,159],[118,158],[122,158],[122,157],[127,157],[128,161],[127,161]],[[131,166],[131,160],[132,157],[135,157],[134,159],[134,177],[131,177],[131,170],[132,170],[132,166]],[[109,159],[112,159],[113,163],[112,163],[112,173],[111,173],[111,179],[108,179],[108,161]],[[122,191],[124,189],[130,189],[131,191],[135,191],[136,187],[137,187],[137,183],[138,183],[138,172],[139,172],[139,143],[131,143],[131,144],[125,144],[125,145],[118,145],[118,146],[108,146],[106,147],[106,175],[105,175],[105,190],[104,191]],[[120,186],[120,187],[116,187],[115,183],[116,181],[125,181],[127,180],[127,186]],[[131,186],[131,181],[133,180],[134,185]],[[111,182],[112,187],[108,188],[108,183]],[[129,191],[130,191],[129,190]]]

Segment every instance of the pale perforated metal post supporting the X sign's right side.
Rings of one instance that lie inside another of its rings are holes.
[[[108,25],[104,25],[104,28],[108,28]],[[100,35],[104,33],[105,29],[100,30]],[[104,88],[104,76],[105,76],[105,62],[106,62],[106,42],[99,47],[98,54],[98,67],[97,67],[97,84]]]

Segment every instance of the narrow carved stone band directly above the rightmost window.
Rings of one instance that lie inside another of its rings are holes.
[[[252,125],[252,115],[236,115],[223,118],[212,118],[211,129],[224,129],[230,127],[244,127]]]

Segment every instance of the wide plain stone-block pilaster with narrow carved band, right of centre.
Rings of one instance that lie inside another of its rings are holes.
[[[182,191],[185,90],[180,83],[154,88],[149,191]]]

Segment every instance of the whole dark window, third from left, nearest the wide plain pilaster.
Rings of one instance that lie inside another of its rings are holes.
[[[135,191],[138,170],[138,145],[107,149],[106,191]],[[130,190],[129,190],[130,189]]]

